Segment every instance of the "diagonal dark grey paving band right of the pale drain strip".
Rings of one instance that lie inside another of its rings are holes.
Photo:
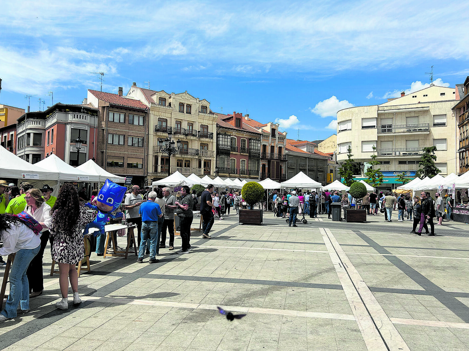
[[[378,251],[380,254],[392,254],[384,247],[379,245],[376,241],[373,241],[365,234],[358,230],[353,230],[363,241],[368,243],[373,249]],[[418,285],[422,286],[427,292],[439,300],[443,305],[446,306],[450,311],[456,314],[464,322],[469,323],[469,307],[464,305],[461,301],[457,300],[451,293],[446,292],[438,285],[432,283],[429,279],[425,278],[421,273],[410,267],[407,263],[403,262],[396,256],[384,256],[389,262],[393,263],[394,266],[399,268],[405,273],[410,279],[415,281]]]

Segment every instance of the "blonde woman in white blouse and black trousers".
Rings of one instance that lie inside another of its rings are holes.
[[[38,254],[32,259],[28,268],[28,280],[30,286],[30,297],[36,297],[42,294],[44,290],[44,276],[42,271],[42,258],[44,249],[49,241],[49,226],[51,225],[51,206],[45,203],[41,190],[33,188],[26,191],[26,208],[24,211],[32,218],[36,219],[43,227],[41,232],[41,248]]]

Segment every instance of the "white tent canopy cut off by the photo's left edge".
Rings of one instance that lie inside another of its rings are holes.
[[[38,164],[24,161],[0,146],[0,175],[2,178],[58,180],[59,173]],[[75,178],[76,180],[76,178]]]

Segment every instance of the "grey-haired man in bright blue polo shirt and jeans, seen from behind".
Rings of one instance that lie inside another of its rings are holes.
[[[138,250],[137,263],[144,263],[144,252],[147,246],[147,241],[150,240],[150,262],[157,263],[156,259],[156,245],[159,242],[158,232],[158,217],[163,216],[161,208],[154,202],[157,195],[156,192],[150,191],[148,194],[148,200],[145,201],[140,208],[138,213],[142,216],[142,231],[140,233],[140,249]]]

